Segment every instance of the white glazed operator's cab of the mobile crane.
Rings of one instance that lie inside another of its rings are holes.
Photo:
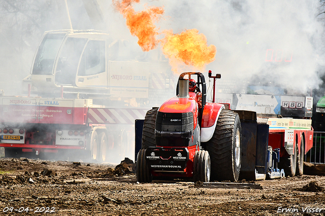
[[[31,68],[32,91],[53,93],[61,86],[106,89],[110,38],[100,31],[47,31]]]

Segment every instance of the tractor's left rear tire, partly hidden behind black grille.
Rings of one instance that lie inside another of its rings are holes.
[[[153,108],[146,113],[143,122],[142,131],[142,149],[147,149],[151,146],[156,146],[156,138],[154,134],[154,129],[156,126],[156,116],[158,108]]]

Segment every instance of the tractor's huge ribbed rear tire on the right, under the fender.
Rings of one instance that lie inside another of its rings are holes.
[[[237,113],[222,110],[212,138],[205,143],[211,158],[211,181],[236,182],[241,167],[241,124]]]

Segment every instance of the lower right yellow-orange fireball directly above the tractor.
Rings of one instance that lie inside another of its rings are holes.
[[[186,65],[203,69],[206,64],[215,60],[217,49],[214,45],[207,45],[207,38],[197,29],[189,29],[180,34],[173,34],[172,30],[165,30],[165,38],[161,40],[163,53],[170,60],[175,71],[184,62]]]

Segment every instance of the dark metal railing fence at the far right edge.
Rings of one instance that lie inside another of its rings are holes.
[[[305,155],[304,161],[325,164],[325,132],[314,132],[313,147]]]

